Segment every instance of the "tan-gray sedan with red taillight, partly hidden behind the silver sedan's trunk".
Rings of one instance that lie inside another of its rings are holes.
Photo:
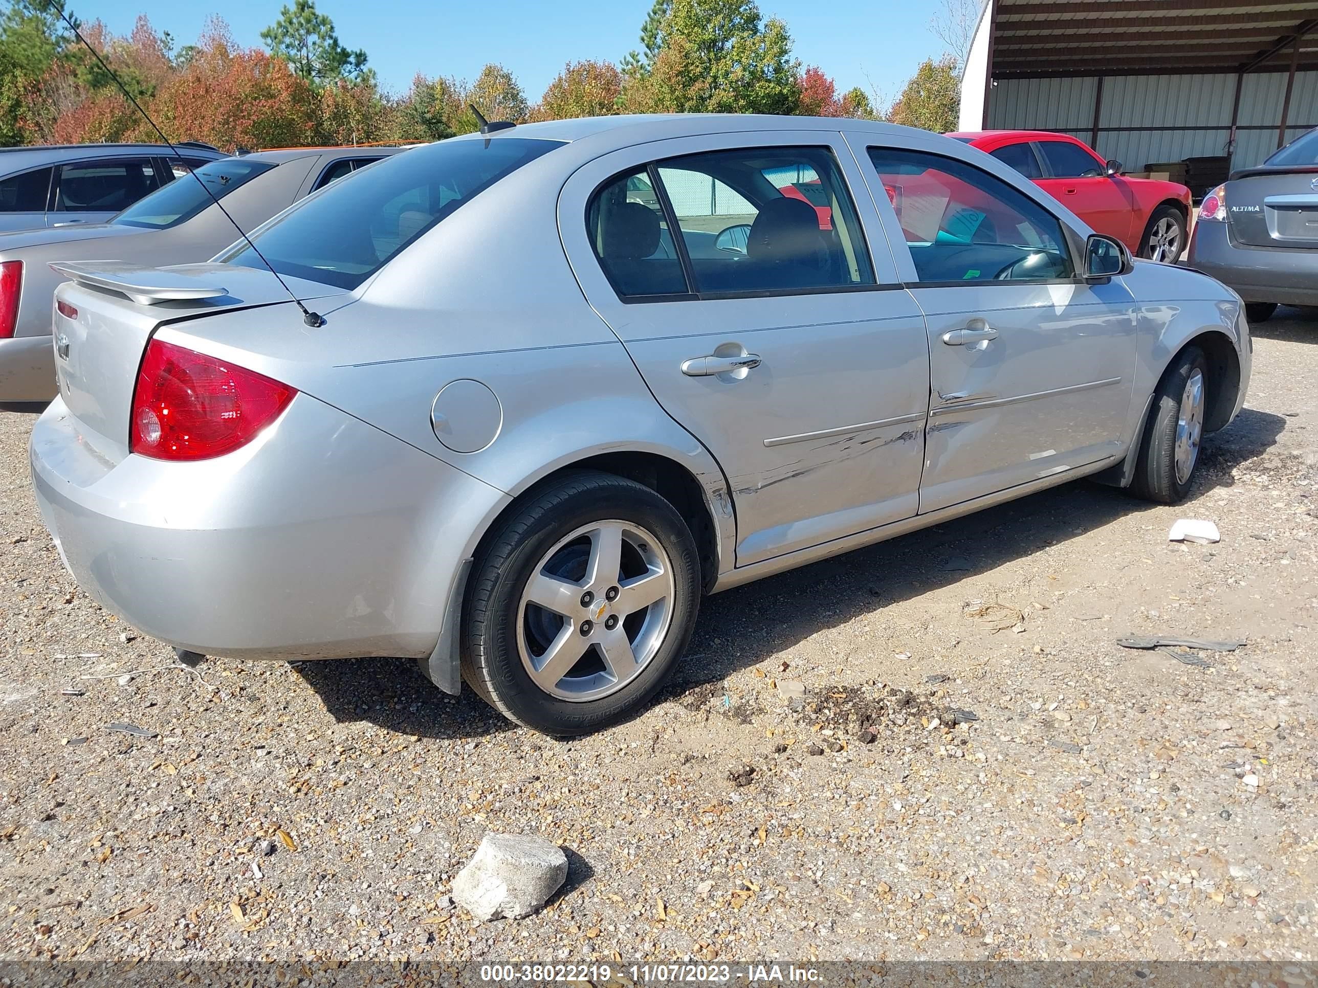
[[[196,175],[244,228],[398,148],[261,151],[202,165]],[[130,258],[142,265],[206,261],[237,238],[198,182],[183,175],[109,223],[0,233],[0,403],[55,397],[51,306],[63,275],[51,261]]]

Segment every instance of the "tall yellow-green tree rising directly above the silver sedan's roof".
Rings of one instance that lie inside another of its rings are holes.
[[[629,72],[623,101],[638,112],[792,113],[800,62],[776,17],[754,0],[672,0],[648,69]]]

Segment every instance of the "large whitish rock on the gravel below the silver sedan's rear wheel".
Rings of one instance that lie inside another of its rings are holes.
[[[543,837],[486,834],[457,872],[453,898],[481,922],[530,916],[568,876],[563,848]]]

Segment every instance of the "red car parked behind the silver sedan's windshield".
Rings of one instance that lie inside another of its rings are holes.
[[[1176,263],[1186,246],[1190,190],[1176,182],[1122,175],[1122,162],[1103,161],[1087,144],[1046,130],[953,133],[1048,191],[1097,233],[1116,237],[1132,253]]]

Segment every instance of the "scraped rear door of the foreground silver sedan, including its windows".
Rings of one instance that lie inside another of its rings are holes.
[[[837,134],[683,138],[568,179],[594,310],[728,473],[737,565],[916,512],[924,319]]]

